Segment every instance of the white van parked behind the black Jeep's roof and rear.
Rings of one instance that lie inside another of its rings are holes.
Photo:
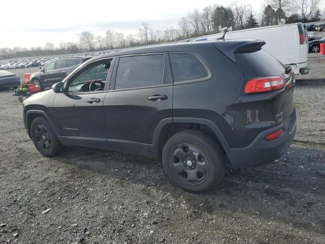
[[[215,34],[189,41],[216,40],[223,34]],[[263,49],[277,58],[282,64],[290,65],[295,74],[308,74],[308,36],[302,23],[273,25],[241,31],[228,32],[225,39],[257,39],[266,44]]]

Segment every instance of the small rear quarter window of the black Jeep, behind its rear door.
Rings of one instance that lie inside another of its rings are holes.
[[[174,82],[200,80],[209,76],[200,60],[189,53],[170,54]]]

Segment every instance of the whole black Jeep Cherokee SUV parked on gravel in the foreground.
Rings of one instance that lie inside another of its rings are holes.
[[[225,161],[277,161],[293,141],[295,77],[263,41],[156,45],[92,58],[26,99],[24,125],[44,156],[81,145],[161,157],[192,192],[213,189]]]

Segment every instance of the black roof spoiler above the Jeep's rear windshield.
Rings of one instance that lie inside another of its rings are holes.
[[[236,62],[235,53],[250,53],[261,50],[266,44],[261,40],[226,40],[216,41],[214,46],[223,52],[224,55]]]

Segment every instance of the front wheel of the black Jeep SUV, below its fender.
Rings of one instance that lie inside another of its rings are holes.
[[[36,117],[32,120],[30,135],[35,147],[42,155],[53,157],[60,154],[62,144],[45,118]]]

